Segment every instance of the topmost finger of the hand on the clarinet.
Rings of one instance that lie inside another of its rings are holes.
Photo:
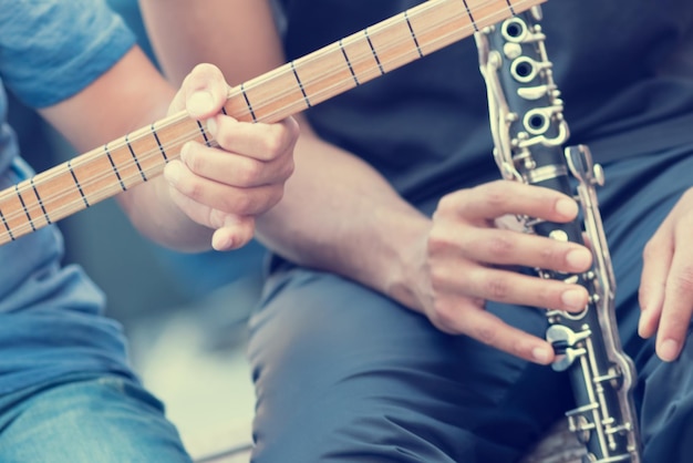
[[[487,222],[513,214],[565,223],[578,214],[575,199],[562,193],[510,181],[458,191],[446,196],[442,204],[446,198],[459,216],[472,220]]]

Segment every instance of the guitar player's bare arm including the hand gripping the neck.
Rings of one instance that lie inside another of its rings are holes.
[[[133,48],[80,93],[40,110],[80,151],[162,119],[169,104],[173,112],[187,109],[196,119],[214,119],[223,147],[240,155],[228,156],[221,150],[190,144],[184,156],[198,160],[197,164],[211,160],[207,162],[216,163],[211,171],[231,175],[193,175],[179,162],[172,162],[165,176],[118,195],[124,210],[145,236],[182,250],[207,249],[210,243],[217,249],[228,249],[250,240],[254,215],[279,200],[292,168],[296,128],[286,123],[248,130],[216,115],[227,85],[215,71],[200,66],[176,94],[144,53]],[[184,194],[177,189],[180,182],[187,182]]]

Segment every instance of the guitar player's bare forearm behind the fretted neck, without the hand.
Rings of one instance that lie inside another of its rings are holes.
[[[86,152],[165,117],[174,95],[175,89],[133,48],[80,93],[40,112],[79,152]],[[182,250],[207,249],[211,230],[187,218],[167,187],[158,176],[116,198],[148,238]]]

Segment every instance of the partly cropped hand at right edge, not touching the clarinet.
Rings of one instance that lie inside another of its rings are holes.
[[[689,189],[643,250],[639,333],[656,333],[656,353],[673,361],[681,353],[693,315],[693,188]]]

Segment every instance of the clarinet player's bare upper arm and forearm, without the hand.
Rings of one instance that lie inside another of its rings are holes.
[[[174,82],[198,61],[215,63],[235,84],[285,63],[263,0],[139,3],[157,59]],[[252,50],[245,47],[249,42]],[[425,237],[430,220],[371,166],[324,143],[299,120],[293,179],[282,202],[258,220],[260,239],[293,261],[345,275],[416,307],[403,285],[413,276],[401,274],[413,267],[405,260],[415,257],[407,254],[421,247],[412,241]]]

